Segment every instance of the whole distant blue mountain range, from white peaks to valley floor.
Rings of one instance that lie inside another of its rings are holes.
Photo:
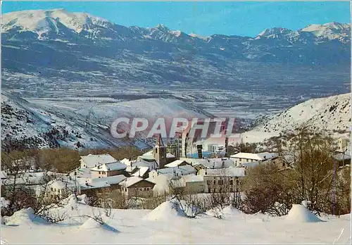
[[[324,73],[322,66],[326,65],[331,66],[330,70],[346,70],[350,63],[350,32],[348,24],[327,23],[301,30],[274,27],[256,37],[201,37],[165,25],[125,27],[64,9],[6,13],[1,23],[3,68],[9,70],[40,70],[41,75],[75,80],[77,76],[86,78],[78,72],[99,70],[111,75],[126,63],[142,70],[144,79],[153,84],[209,80],[209,86],[214,80],[222,84],[241,82],[228,77],[246,78],[238,74],[241,70],[272,70],[268,69],[270,64],[278,72],[289,64],[296,77],[299,70],[304,70],[302,65],[308,65],[312,73]],[[220,71],[229,76],[219,77],[216,73]],[[257,80],[256,76],[252,72],[249,80]],[[139,79],[134,70],[115,77]]]

